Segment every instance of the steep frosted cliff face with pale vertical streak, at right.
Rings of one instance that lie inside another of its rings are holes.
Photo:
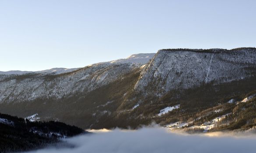
[[[256,49],[165,49],[144,66],[135,88],[161,96],[203,83],[224,83],[255,75]]]

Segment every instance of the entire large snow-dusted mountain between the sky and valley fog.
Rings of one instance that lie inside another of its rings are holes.
[[[221,118],[222,129],[247,130],[256,121],[255,59],[255,48],[162,49],[68,73],[0,75],[0,112],[84,129],[155,121],[217,130]]]

